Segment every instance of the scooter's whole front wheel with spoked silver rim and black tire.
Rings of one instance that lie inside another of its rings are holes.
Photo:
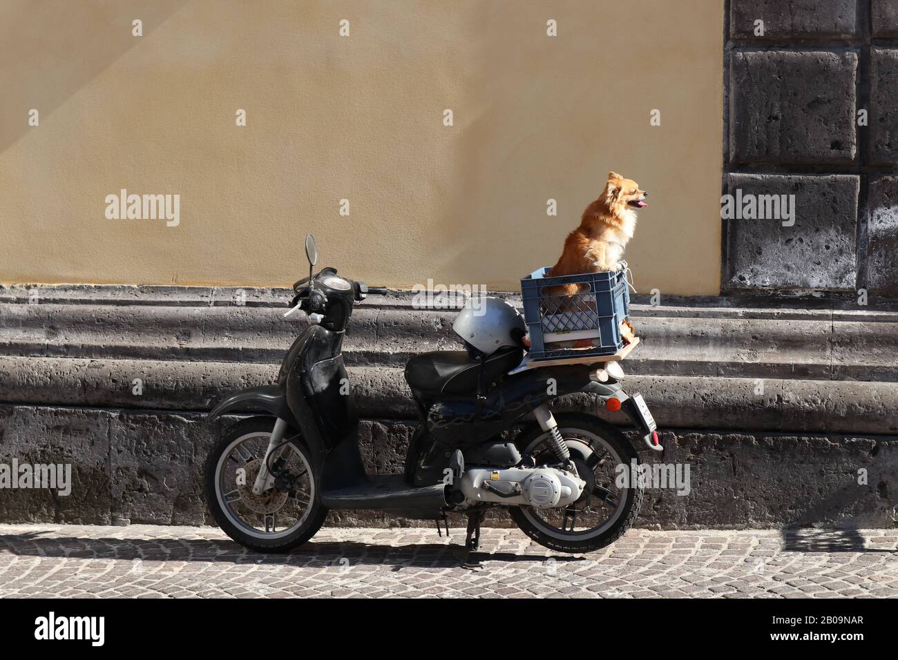
[[[275,419],[254,417],[230,427],[209,453],[206,498],[216,523],[242,546],[286,552],[313,537],[328,510],[321,505],[312,456],[295,430],[269,456],[275,483],[252,491]]]

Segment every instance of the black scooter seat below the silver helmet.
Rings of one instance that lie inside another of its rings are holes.
[[[500,348],[484,361],[487,389],[521,364],[524,350]],[[405,380],[413,392],[475,394],[480,362],[465,350],[436,350],[412,357],[405,365]]]

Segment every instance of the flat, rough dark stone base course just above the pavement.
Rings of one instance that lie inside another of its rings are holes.
[[[219,423],[229,424],[235,418]],[[369,471],[401,471],[413,425],[365,420]],[[196,414],[0,405],[0,462],[73,464],[73,491],[0,489],[0,522],[208,524],[201,471],[218,433]],[[691,492],[650,489],[638,524],[662,529],[891,527],[898,438],[665,431],[652,462],[690,465]],[[858,484],[858,471],[867,483]],[[331,524],[396,524],[373,512]],[[498,516],[490,524],[507,524]]]

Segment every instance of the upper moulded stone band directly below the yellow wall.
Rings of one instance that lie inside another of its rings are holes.
[[[409,297],[359,306],[348,365],[401,366],[422,351],[459,348],[456,312],[413,309]],[[0,303],[0,356],[275,365],[305,323],[283,312]],[[898,380],[898,312],[644,304],[630,312],[643,339],[627,361],[633,373]]]

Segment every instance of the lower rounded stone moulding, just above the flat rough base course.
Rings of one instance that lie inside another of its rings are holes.
[[[362,416],[416,417],[401,368],[351,366],[348,374]],[[0,356],[0,400],[201,412],[232,392],[273,383],[276,376],[277,365]],[[132,392],[135,378],[142,380],[140,395]],[[898,433],[898,383],[639,374],[624,384],[628,392],[645,396],[662,429]],[[594,406],[586,395],[565,401],[578,409]],[[621,413],[612,422],[629,426]]]

